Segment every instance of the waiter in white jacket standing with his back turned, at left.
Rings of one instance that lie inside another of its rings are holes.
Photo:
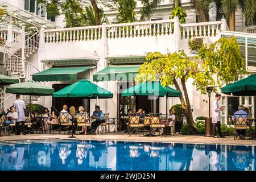
[[[20,123],[22,125],[22,133],[23,135],[26,135],[24,133],[25,130],[25,113],[24,109],[26,109],[25,102],[20,100],[20,95],[16,94],[16,101],[14,101],[13,106],[15,107],[15,111],[19,114],[18,119],[16,121],[16,135],[20,135]]]

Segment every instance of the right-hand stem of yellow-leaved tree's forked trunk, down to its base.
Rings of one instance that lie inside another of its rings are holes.
[[[187,91],[187,87],[185,84],[185,76],[183,78],[181,78],[181,86],[183,88],[183,93],[184,93],[184,97],[185,97],[185,101],[186,101],[186,105],[187,105],[187,123],[188,123],[188,128],[191,131],[191,133],[196,133],[197,132],[197,128],[195,126],[195,122],[193,120],[193,115],[192,115],[192,110],[191,110],[191,105],[189,102],[189,97],[188,97],[188,91]]]

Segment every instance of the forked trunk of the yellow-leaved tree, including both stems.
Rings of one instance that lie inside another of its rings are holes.
[[[175,85],[176,90],[181,91],[180,86],[177,83],[177,80],[175,80],[175,79],[174,79],[174,85]],[[182,79],[181,79],[181,85],[183,87]],[[191,131],[191,133],[196,133],[197,132],[197,128],[195,126],[195,122],[193,121],[193,115],[192,115],[191,106],[190,106],[190,103],[189,103],[189,98],[188,98],[188,93],[187,93],[187,88],[186,87],[185,87],[185,89],[183,88],[183,93],[184,93],[186,102],[185,102],[183,96],[180,97],[180,102],[181,102],[181,105],[182,105],[183,109],[185,109],[185,116],[187,118],[188,129],[189,129],[189,131]]]

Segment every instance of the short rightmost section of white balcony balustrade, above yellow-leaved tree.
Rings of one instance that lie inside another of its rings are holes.
[[[180,24],[181,37],[216,36],[217,31],[221,30],[221,24],[222,21]]]

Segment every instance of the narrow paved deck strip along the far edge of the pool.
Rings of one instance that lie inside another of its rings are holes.
[[[68,138],[68,134],[27,134],[27,135],[10,135],[0,137],[0,142],[16,141],[16,140],[34,140],[34,139],[79,139],[79,140],[119,140],[119,141],[134,141],[134,142],[174,142],[174,143],[202,143],[202,144],[230,144],[230,145],[253,145],[256,146],[255,139],[249,140],[234,140],[234,137],[213,138],[195,135],[175,135],[157,137],[139,137],[138,135],[110,133],[97,135],[75,135],[76,138]]]

